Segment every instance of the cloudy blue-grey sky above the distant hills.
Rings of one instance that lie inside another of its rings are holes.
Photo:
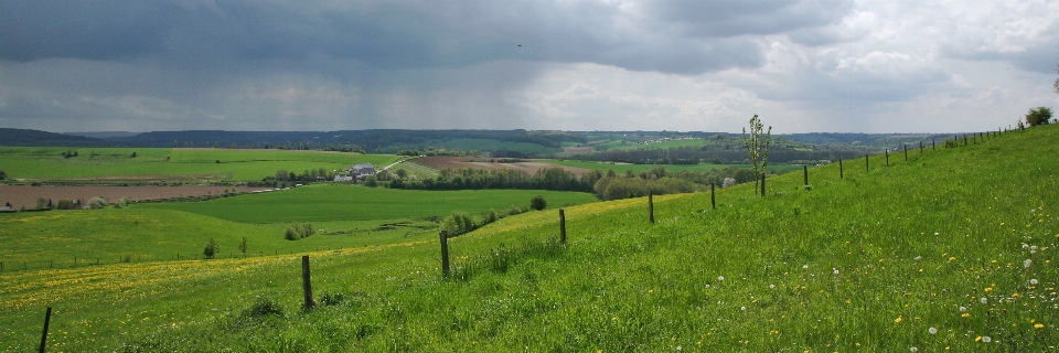
[[[0,127],[996,130],[1059,1],[0,0]]]

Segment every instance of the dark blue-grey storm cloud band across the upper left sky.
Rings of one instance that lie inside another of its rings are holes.
[[[587,1],[12,1],[0,4],[0,57],[150,60],[193,71],[270,61],[314,71],[314,56],[383,69],[524,60],[700,73],[760,63],[756,45],[734,36],[826,24],[843,8],[790,1],[648,7],[641,18]]]

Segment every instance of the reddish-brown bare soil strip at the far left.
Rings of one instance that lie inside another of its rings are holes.
[[[269,190],[272,188],[247,188],[247,186],[204,186],[204,185],[180,185],[180,186],[28,186],[28,185],[0,185],[0,205],[11,203],[12,210],[36,208],[36,199],[52,200],[57,204],[60,200],[81,200],[82,203],[88,202],[96,196],[106,197],[111,203],[118,202],[121,197],[128,196],[130,201],[172,199],[186,196],[203,196],[223,194],[224,190],[235,190],[235,192],[252,192],[259,190]]]

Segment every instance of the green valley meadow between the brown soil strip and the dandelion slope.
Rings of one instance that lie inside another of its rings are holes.
[[[247,255],[257,256],[403,243],[436,235],[437,218],[452,211],[527,207],[538,194],[553,208],[599,201],[576,192],[310,185],[203,202],[0,214],[0,243],[7,244],[0,261],[10,271],[194,259],[210,238],[221,257],[243,256],[244,237]],[[287,240],[284,232],[293,223],[309,223],[318,234]]]

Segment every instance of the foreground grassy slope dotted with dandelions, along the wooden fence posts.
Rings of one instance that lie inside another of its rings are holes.
[[[450,239],[448,279],[437,239],[313,253],[312,311],[295,256],[6,271],[0,342],[35,347],[52,306],[54,351],[1046,351],[1057,138],[655,197],[655,224],[569,207],[565,246],[554,212],[509,217]]]

